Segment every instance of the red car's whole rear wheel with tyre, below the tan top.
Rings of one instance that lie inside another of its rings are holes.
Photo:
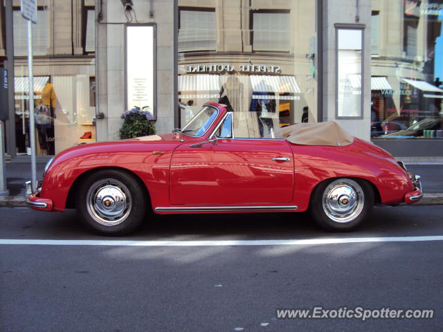
[[[325,230],[349,231],[365,221],[373,205],[374,192],[369,183],[337,178],[316,187],[310,212]]]

